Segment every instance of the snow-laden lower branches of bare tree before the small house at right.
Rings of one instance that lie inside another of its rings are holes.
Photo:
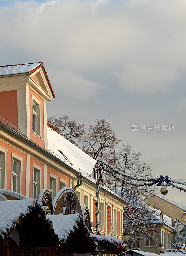
[[[123,211],[123,229],[129,233],[129,247],[157,245],[161,236],[161,212],[133,197]],[[144,241],[145,240],[145,241]],[[144,242],[142,242],[144,241]]]

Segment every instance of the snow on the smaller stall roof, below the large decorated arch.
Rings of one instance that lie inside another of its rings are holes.
[[[54,232],[58,235],[62,243],[65,243],[70,233],[78,229],[77,224],[80,221],[80,214],[74,213],[69,215],[48,215],[46,218],[53,223]]]

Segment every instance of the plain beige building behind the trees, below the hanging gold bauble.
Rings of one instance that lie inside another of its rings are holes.
[[[180,223],[186,223],[186,206],[167,199],[166,196],[153,195],[146,199],[145,202],[153,208],[162,211],[172,219],[179,220]]]

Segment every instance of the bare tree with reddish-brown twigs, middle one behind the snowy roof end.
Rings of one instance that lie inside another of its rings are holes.
[[[94,159],[105,159],[108,163],[116,163],[115,147],[121,140],[105,119],[97,119],[95,124],[89,126],[88,133],[83,139],[83,151]]]

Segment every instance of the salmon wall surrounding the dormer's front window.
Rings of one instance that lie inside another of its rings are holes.
[[[43,140],[40,140],[32,133],[32,95],[35,96],[41,102],[41,137]],[[43,99],[39,97],[35,92],[29,88],[29,97],[30,97],[30,139],[34,141],[37,145],[44,148],[44,118],[43,118]]]

